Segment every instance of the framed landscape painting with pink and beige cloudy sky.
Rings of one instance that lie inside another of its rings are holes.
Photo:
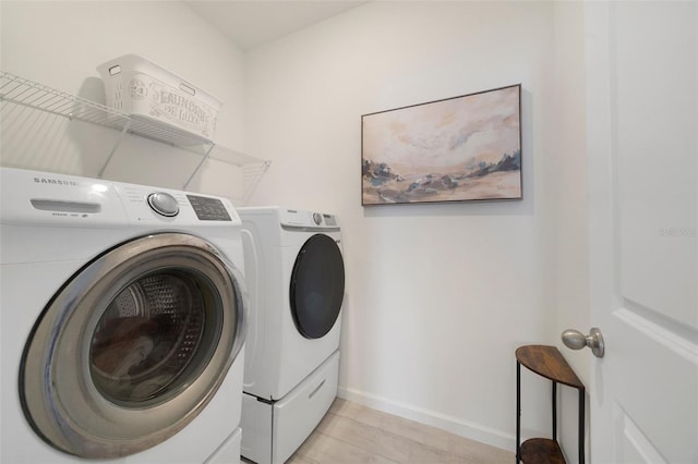
[[[361,117],[361,204],[521,199],[521,85]]]

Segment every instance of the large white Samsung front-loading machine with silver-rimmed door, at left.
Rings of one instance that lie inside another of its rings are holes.
[[[248,297],[232,205],[0,180],[0,461],[238,463]]]

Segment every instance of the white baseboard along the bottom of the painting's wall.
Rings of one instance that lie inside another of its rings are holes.
[[[514,452],[514,449],[516,448],[516,437],[501,430],[479,426],[457,417],[423,410],[411,404],[400,403],[398,401],[346,387],[339,387],[337,396],[384,413],[437,427],[452,434],[491,444],[503,450]]]

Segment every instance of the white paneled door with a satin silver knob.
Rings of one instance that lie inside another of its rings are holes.
[[[590,461],[698,463],[698,3],[586,11]]]

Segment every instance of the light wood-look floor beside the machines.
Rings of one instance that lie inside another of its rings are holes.
[[[336,399],[288,464],[510,464],[514,453]]]

